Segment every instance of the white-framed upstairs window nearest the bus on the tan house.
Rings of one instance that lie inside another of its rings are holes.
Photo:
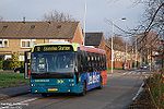
[[[21,47],[22,48],[32,48],[34,47],[35,39],[21,39]]]

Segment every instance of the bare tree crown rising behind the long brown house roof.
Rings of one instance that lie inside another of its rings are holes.
[[[68,13],[58,12],[58,11],[50,11],[44,14],[45,21],[55,21],[55,22],[66,22],[66,21],[75,21],[72,16]]]

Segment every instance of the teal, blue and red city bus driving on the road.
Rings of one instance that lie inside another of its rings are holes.
[[[43,44],[25,53],[25,75],[31,92],[47,96],[51,93],[85,95],[107,83],[105,50],[79,44]]]

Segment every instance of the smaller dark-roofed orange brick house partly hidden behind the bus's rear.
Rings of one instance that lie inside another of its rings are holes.
[[[112,50],[108,45],[106,45],[105,37],[103,33],[86,33],[85,34],[85,46],[94,46],[106,50],[107,68],[110,68]]]

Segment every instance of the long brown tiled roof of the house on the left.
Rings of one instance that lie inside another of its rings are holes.
[[[0,38],[73,38],[79,22],[0,22]]]

